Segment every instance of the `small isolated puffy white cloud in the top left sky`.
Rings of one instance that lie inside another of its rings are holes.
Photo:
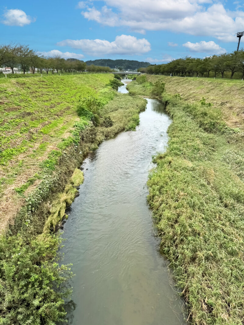
[[[9,9],[4,13],[3,17],[4,20],[2,20],[2,23],[8,26],[23,27],[35,21],[35,18],[27,16],[26,13],[20,9]]]

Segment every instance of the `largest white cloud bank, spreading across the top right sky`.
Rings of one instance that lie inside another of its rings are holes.
[[[81,14],[105,26],[127,26],[133,31],[169,30],[196,36],[213,36],[225,42],[236,41],[244,30],[244,12],[226,10],[211,0],[103,0],[101,9],[88,5]]]

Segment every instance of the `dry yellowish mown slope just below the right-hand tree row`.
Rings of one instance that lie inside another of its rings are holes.
[[[169,77],[159,75],[147,75],[149,83],[141,84],[137,90],[132,89],[133,83],[128,85],[130,92],[149,94],[152,87],[151,83],[157,80],[165,82],[166,92],[170,94],[180,94],[183,100],[193,103],[206,98],[214,107],[218,107],[223,113],[225,123],[233,128],[239,127],[244,131],[244,82],[231,79],[213,78],[191,78],[191,77]]]

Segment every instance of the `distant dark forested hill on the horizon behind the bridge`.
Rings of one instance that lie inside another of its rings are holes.
[[[98,59],[98,60],[89,60],[86,61],[87,65],[99,65],[102,67],[105,67],[107,64],[107,67],[113,68],[122,68],[125,70],[128,69],[139,69],[139,68],[146,68],[150,65],[149,62],[139,62],[136,60],[111,60],[111,59]]]

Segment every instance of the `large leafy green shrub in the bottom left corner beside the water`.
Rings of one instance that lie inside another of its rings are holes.
[[[17,236],[1,238],[0,324],[62,321],[65,316],[62,297],[71,293],[62,283],[72,273],[68,266],[57,264],[56,250],[60,242],[55,235],[30,242]]]

